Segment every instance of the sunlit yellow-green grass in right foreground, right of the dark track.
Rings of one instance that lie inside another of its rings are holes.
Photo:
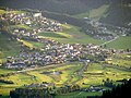
[[[79,81],[76,84],[81,85],[82,87],[100,85],[105,78],[110,78],[112,81],[131,78],[131,73],[117,70],[115,68],[104,68],[98,63],[93,63],[87,68],[87,71],[84,72],[84,78]],[[82,85],[82,83],[85,83],[86,85]]]

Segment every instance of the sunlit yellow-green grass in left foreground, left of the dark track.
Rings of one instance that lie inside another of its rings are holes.
[[[1,84],[0,94],[8,95],[10,89],[14,89],[15,87],[21,87],[25,84],[32,84],[32,83],[49,82],[49,83],[56,83],[57,86],[63,86],[64,82],[68,81],[68,77],[70,76],[70,74],[72,74],[72,72],[74,72],[79,68],[80,66],[78,66],[75,63],[68,64],[68,65],[63,64],[60,68],[56,68],[52,65],[51,68],[46,66],[44,69],[39,69],[36,71],[28,71],[28,72],[26,72],[26,74],[25,73],[17,73],[17,74],[14,74],[11,76],[2,77],[2,79],[13,81],[14,84],[12,84],[12,85]],[[47,69],[48,69],[48,71],[62,71],[62,74],[60,74],[61,78],[58,78],[59,82],[58,82],[58,79],[53,79],[51,75],[41,74],[41,72],[47,71]],[[70,70],[70,71],[68,71],[68,70]],[[2,70],[2,71],[4,71],[4,73],[12,72],[9,70]],[[34,76],[36,76],[36,77],[34,78]]]

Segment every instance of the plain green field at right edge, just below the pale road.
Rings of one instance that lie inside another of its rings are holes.
[[[111,41],[106,45],[107,48],[115,48],[115,49],[130,49],[131,48],[131,37],[124,36],[119,37],[117,40]]]

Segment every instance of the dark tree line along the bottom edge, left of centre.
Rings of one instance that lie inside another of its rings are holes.
[[[43,87],[43,88],[15,88],[10,91],[11,98],[55,98],[57,95],[80,90],[79,85],[64,85],[63,87]]]

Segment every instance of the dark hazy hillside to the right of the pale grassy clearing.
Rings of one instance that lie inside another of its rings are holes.
[[[100,19],[100,22],[119,26],[126,26],[131,22],[130,4],[129,3],[110,4],[109,9],[106,12],[107,15],[105,17],[103,16]]]

